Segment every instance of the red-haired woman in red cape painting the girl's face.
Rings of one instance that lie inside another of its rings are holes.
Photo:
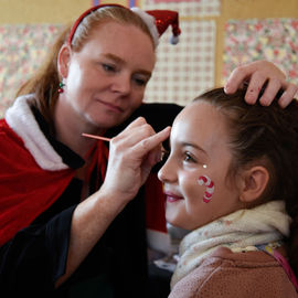
[[[115,4],[93,8],[63,32],[47,64],[7,111],[0,152],[2,292],[150,296],[143,189],[138,190],[181,109],[142,105],[155,45],[135,12]],[[277,68],[248,67],[236,77],[266,74],[268,89],[283,85],[289,100],[292,85]],[[251,89],[257,88],[254,83]],[[116,136],[139,116],[147,120],[137,119],[114,138],[109,152],[107,143],[82,137]]]

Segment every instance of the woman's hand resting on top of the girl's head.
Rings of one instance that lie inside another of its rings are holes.
[[[268,61],[256,61],[236,67],[230,75],[225,92],[235,93],[244,82],[248,81],[245,100],[247,104],[255,104],[262,87],[267,84],[259,102],[264,106],[269,106],[279,89],[284,93],[278,103],[280,107],[286,107],[298,92],[298,86],[286,82],[286,75]]]

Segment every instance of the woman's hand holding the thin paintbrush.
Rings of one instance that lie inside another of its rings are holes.
[[[145,118],[138,118],[111,139],[107,173],[102,190],[130,201],[160,161],[161,143],[170,127],[156,132]]]

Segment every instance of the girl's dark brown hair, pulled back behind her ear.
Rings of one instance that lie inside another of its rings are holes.
[[[248,105],[245,93],[246,87],[233,95],[216,88],[194,100],[207,102],[225,116],[233,152],[230,178],[257,162],[267,168],[270,178],[262,199],[285,201],[292,219],[287,253],[298,275],[298,102],[294,99],[281,109],[278,94],[268,107]]]

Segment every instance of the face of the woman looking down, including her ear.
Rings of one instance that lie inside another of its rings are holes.
[[[140,29],[108,22],[93,31],[82,51],[63,51],[58,63],[66,65],[61,71],[65,86],[57,106],[66,113],[109,128],[140,106],[156,58],[150,38]]]

